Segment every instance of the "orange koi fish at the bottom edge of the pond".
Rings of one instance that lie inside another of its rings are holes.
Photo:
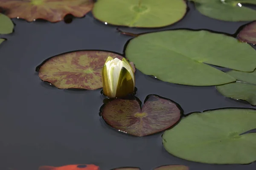
[[[99,167],[94,164],[76,164],[62,167],[42,166],[38,170],[99,170]]]

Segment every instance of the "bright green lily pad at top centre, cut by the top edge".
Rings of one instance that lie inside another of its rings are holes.
[[[163,27],[181,20],[186,14],[184,0],[97,0],[96,19],[116,26]]]

